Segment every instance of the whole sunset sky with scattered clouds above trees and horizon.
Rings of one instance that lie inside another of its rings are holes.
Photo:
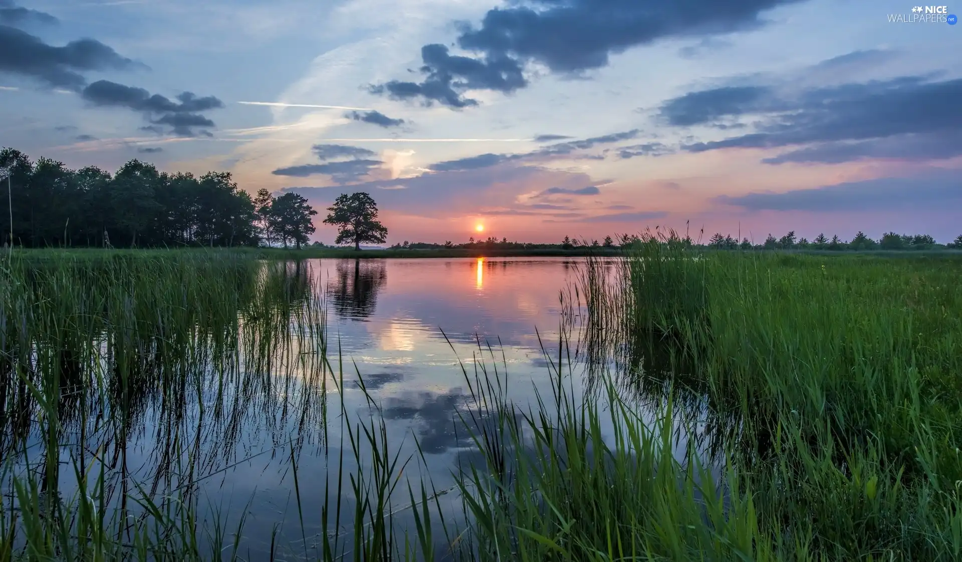
[[[962,5],[0,0],[0,146],[230,171],[388,243],[962,234]],[[939,13],[945,12],[945,13]]]

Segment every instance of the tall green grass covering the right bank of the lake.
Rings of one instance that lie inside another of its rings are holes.
[[[962,556],[962,261],[648,237],[618,269],[584,277],[611,303],[586,337],[610,326],[612,357],[637,358],[620,377],[707,402],[763,537],[823,559]],[[640,368],[637,337],[670,347],[673,369]]]

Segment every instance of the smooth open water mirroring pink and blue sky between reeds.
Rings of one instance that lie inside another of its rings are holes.
[[[335,527],[348,537],[351,533],[354,494],[348,475],[358,467],[343,424],[384,420],[391,453],[402,462],[411,459],[393,498],[395,524],[413,528],[411,510],[405,508],[406,482],[414,483],[416,496],[421,481],[429,480],[434,490],[453,490],[452,472],[481,461],[458,417],[475,407],[466,370],[471,376],[482,366],[492,376],[496,370],[507,396],[521,407],[535,399],[535,389],[551,396],[556,375],[549,364],[559,357],[559,340],[567,336],[572,352],[578,342],[576,327],[563,334],[560,295],[577,282],[581,263],[495,258],[302,264],[311,271],[327,309],[326,341],[334,370],[327,395],[296,376],[258,388],[247,388],[249,382],[212,384],[202,391],[204,408],[196,400],[175,407],[151,405],[139,429],[120,447],[125,458],[119,465],[144,489],[170,482],[172,473],[174,485],[199,481],[208,523],[216,514],[230,533],[244,520],[241,549],[249,559],[266,557],[275,532],[277,544],[288,545],[282,558],[303,557],[305,548],[314,556],[311,547],[322,533],[336,532]],[[289,361],[297,365],[312,353],[316,351],[295,348]],[[575,394],[581,393],[583,366],[565,371],[571,373]],[[334,383],[341,376],[339,390]],[[326,414],[318,413],[317,406],[298,406],[311,393],[326,403]],[[172,438],[174,426],[184,434]],[[608,435],[610,429],[605,429]],[[676,456],[684,454],[687,441],[678,438]],[[361,448],[361,469],[367,471],[369,450]],[[342,456],[345,473],[339,490]],[[178,458],[181,467],[192,467],[190,473],[171,468],[176,464],[171,459]],[[111,470],[117,466],[114,458]],[[70,488],[70,476],[63,471],[63,489]],[[161,490],[171,485],[166,486]],[[322,506],[339,494],[344,500],[341,521],[324,529]],[[463,523],[457,493],[443,495],[441,509],[449,522]],[[435,535],[444,542],[440,528]]]

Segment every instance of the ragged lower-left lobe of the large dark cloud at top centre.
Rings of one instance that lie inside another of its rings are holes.
[[[425,105],[434,102],[452,108],[477,105],[477,100],[462,97],[466,89],[494,89],[512,92],[527,86],[518,61],[504,55],[483,59],[452,56],[446,46],[430,44],[421,47],[420,70],[423,82],[400,82],[372,86],[372,93],[387,93],[393,99],[421,98]]]

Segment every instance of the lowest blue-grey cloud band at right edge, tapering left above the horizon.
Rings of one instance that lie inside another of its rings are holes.
[[[962,208],[962,185],[956,170],[922,177],[889,177],[791,192],[753,192],[716,197],[716,201],[751,211],[902,211]]]

